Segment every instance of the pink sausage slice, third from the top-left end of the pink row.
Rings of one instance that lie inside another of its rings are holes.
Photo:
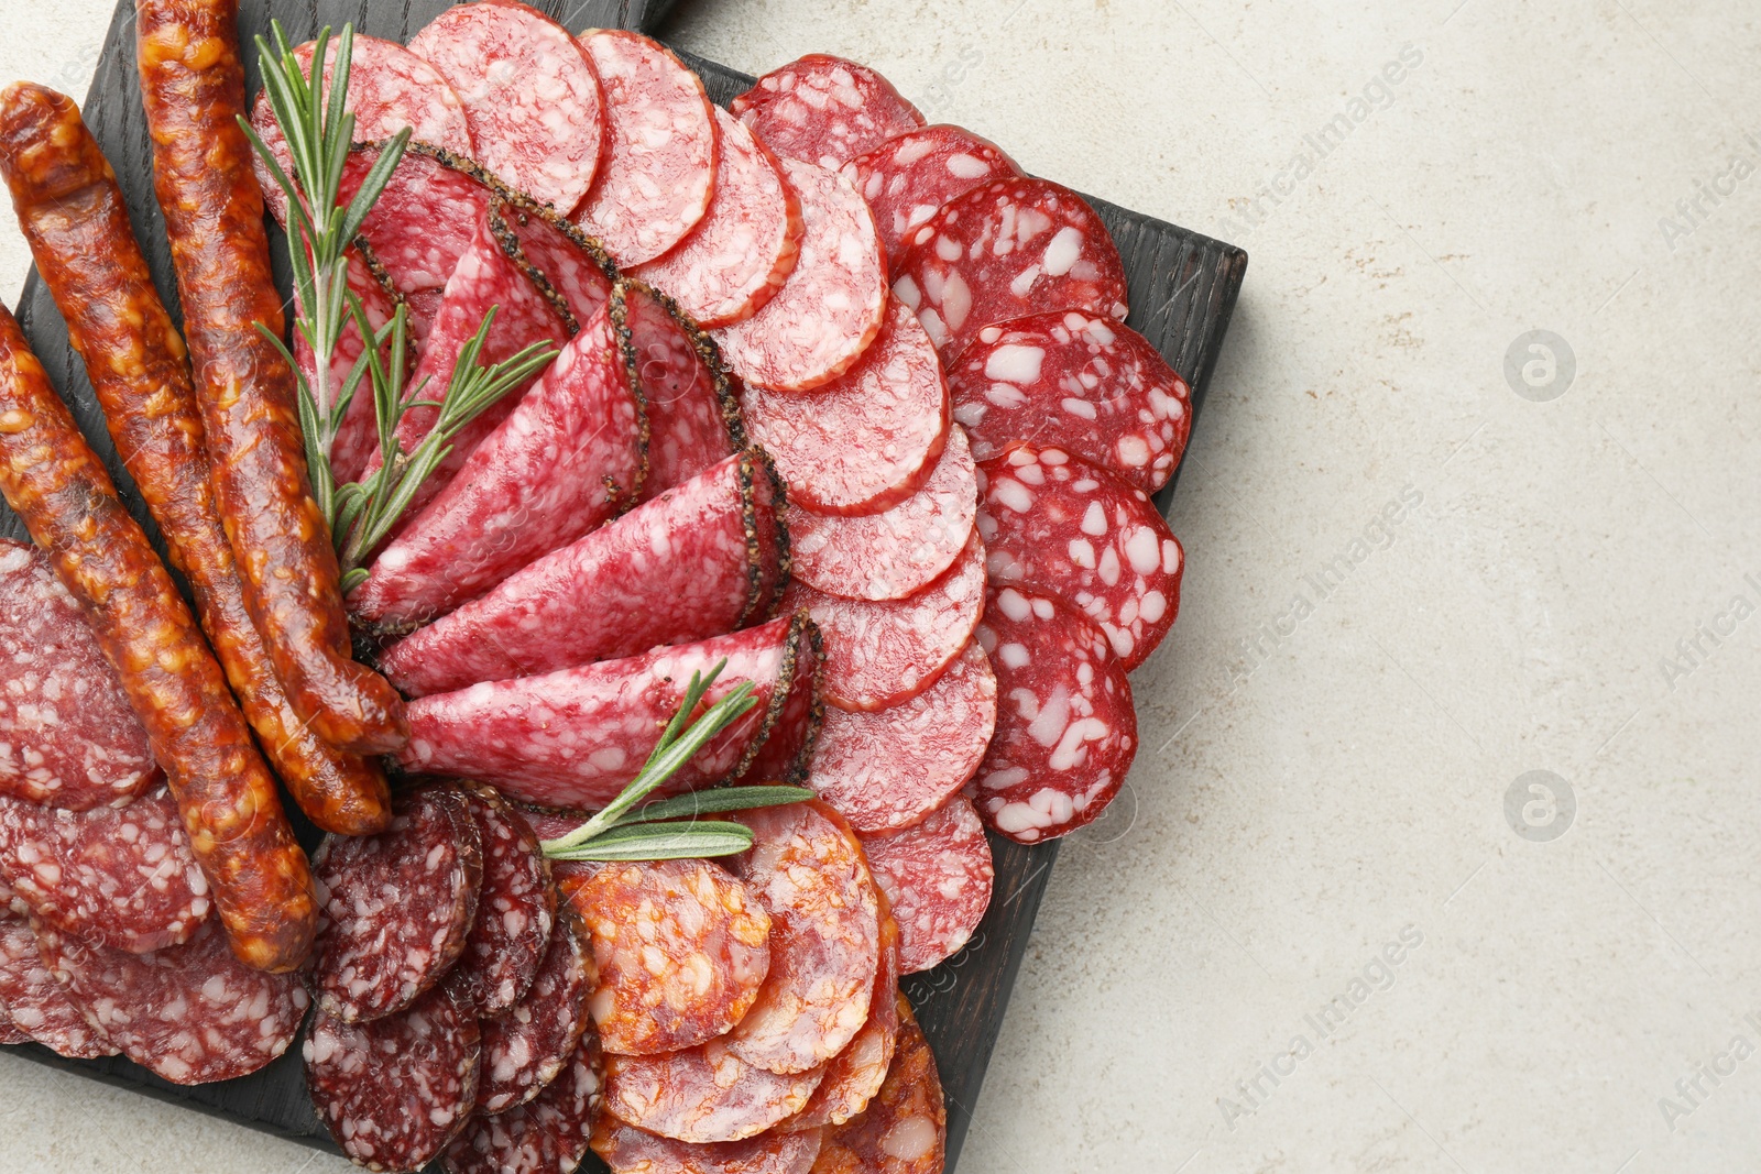
[[[659,40],[623,28],[581,37],[606,86],[606,162],[574,220],[620,266],[685,239],[715,192],[715,113],[703,79]]]

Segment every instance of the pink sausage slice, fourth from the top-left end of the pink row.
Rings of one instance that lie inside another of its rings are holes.
[[[697,326],[750,319],[764,308],[801,253],[801,201],[784,183],[782,164],[752,132],[715,107],[722,158],[710,209],[683,241],[636,266]]]

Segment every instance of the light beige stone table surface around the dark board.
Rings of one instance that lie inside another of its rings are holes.
[[[83,93],[109,7],[4,0],[0,79]],[[1058,861],[962,1174],[1756,1169],[1761,4],[685,0],[673,33],[870,62],[1252,253],[1143,750]],[[0,294],[25,269],[5,224]],[[7,1174],[345,1169],[23,1060],[0,1123]]]

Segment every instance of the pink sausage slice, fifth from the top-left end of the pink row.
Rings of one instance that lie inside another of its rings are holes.
[[[851,370],[880,333],[886,253],[873,213],[847,180],[792,158],[782,169],[801,201],[801,253],[777,296],[715,341],[745,382],[812,391]]]

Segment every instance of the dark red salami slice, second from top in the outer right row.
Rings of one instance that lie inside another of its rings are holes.
[[[844,164],[844,178],[873,208],[888,257],[900,257],[905,236],[947,201],[1018,174],[1000,146],[946,123],[905,130]]]

